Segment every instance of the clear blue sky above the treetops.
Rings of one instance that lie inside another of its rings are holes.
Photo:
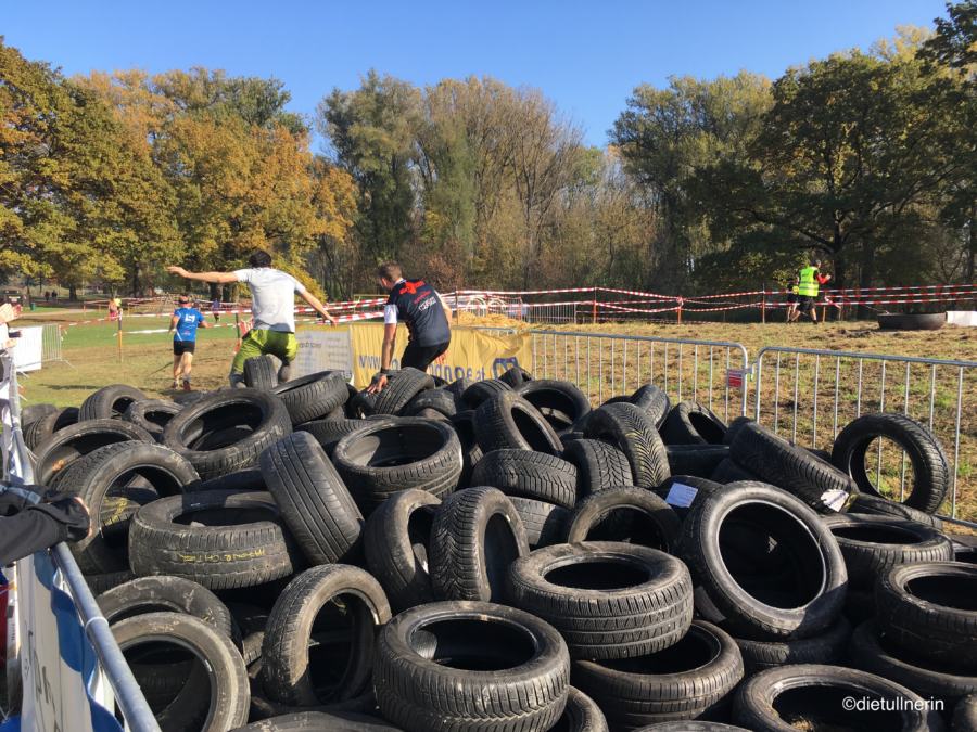
[[[931,26],[941,0],[0,2],[0,35],[67,74],[206,66],[275,76],[312,115],[369,68],[422,86],[487,75],[543,90],[588,143],[640,82],[785,68]],[[319,143],[317,143],[319,144]]]

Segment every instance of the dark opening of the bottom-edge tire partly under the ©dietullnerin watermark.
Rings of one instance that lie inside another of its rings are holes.
[[[864,688],[796,686],[782,691],[772,699],[774,711],[799,730],[900,730],[902,715],[898,711],[846,710],[846,699],[883,699]],[[888,699],[894,703],[894,698]]]

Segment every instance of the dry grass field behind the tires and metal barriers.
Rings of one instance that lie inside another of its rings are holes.
[[[94,313],[85,313],[92,318]],[[83,317],[78,311],[48,311],[25,317],[24,324],[59,322],[64,326],[64,357],[69,363],[46,365],[43,370],[22,380],[26,403],[49,401],[58,406],[79,404],[91,391],[106,384],[127,383],[150,396],[170,396],[172,351],[167,333],[135,334],[137,330],[165,330],[168,318],[130,318],[125,321],[123,358],[118,360],[116,325],[106,321],[89,321],[66,325]],[[213,323],[213,318],[208,318]],[[227,317],[221,319],[226,323]],[[477,324],[466,318],[466,324]],[[493,325],[507,323],[495,319]],[[664,338],[724,341],[743,344],[754,359],[763,347],[789,346],[828,351],[857,351],[916,356],[937,359],[977,361],[977,329],[947,326],[936,332],[883,333],[873,323],[846,322],[813,325],[800,323],[725,324],[689,323],[601,323],[557,326],[556,332],[588,332],[604,335],[658,336]],[[700,347],[684,346],[681,350],[663,344],[621,341],[610,343],[592,339],[589,352],[584,351],[586,338],[570,336],[536,336],[534,372],[537,375],[576,381],[594,401],[607,399],[625,390],[634,390],[639,383],[654,381],[667,386],[673,401],[678,391],[682,398],[701,402],[712,400],[712,407],[723,416],[738,414],[739,391],[729,389],[726,402],[724,386],[725,354]],[[214,389],[227,384],[227,371],[233,356],[233,328],[203,331],[198,336],[194,358],[193,387]],[[574,349],[579,349],[580,357]],[[626,352],[625,352],[625,349]],[[710,359],[711,356],[711,359]],[[584,363],[581,367],[580,360]],[[737,367],[735,351],[731,365]],[[943,441],[959,481],[956,515],[977,519],[977,369],[961,372],[955,368],[930,370],[925,365],[888,364],[885,375],[878,363],[866,362],[862,368],[862,397],[858,396],[854,361],[833,358],[796,358],[782,356],[781,376],[776,378],[776,359],[763,362],[763,388],[760,394],[761,420],[776,426],[781,434],[798,442],[830,449],[837,429],[857,413],[878,411],[908,412],[923,422],[932,416],[932,426]],[[587,368],[589,365],[589,368]],[[816,369],[816,372],[815,372]],[[970,373],[973,372],[973,373]],[[680,380],[681,375],[681,380]],[[838,377],[836,387],[835,378]],[[669,380],[669,383],[665,383]],[[819,402],[814,407],[814,383],[817,380]],[[885,384],[885,389],[880,386]],[[756,404],[756,384],[749,385],[749,413]],[[957,400],[961,402],[961,438],[954,440]],[[836,409],[836,402],[838,404]],[[727,411],[728,410],[728,411]],[[898,495],[905,480],[912,478],[912,467],[901,451],[891,445],[873,446],[870,474],[876,475],[884,492]],[[866,463],[868,463],[866,458]],[[877,461],[877,463],[876,463]],[[944,511],[953,509],[948,501]]]

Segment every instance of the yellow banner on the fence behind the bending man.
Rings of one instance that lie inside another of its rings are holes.
[[[380,348],[383,345],[382,323],[356,323],[353,336],[353,383],[364,388],[380,370]],[[407,329],[397,328],[392,369],[398,369],[407,347]],[[453,382],[462,376],[475,381],[494,378],[513,365],[532,367],[532,347],[528,335],[496,335],[465,328],[452,329],[452,345],[444,355],[444,363],[432,363],[428,373]]]

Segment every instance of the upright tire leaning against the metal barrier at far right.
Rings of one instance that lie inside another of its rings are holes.
[[[936,513],[950,490],[951,472],[943,447],[926,426],[905,414],[862,414],[838,433],[832,462],[850,475],[859,490],[880,496],[865,472],[865,451],[878,437],[899,445],[913,465],[913,487],[902,501],[924,513]]]

